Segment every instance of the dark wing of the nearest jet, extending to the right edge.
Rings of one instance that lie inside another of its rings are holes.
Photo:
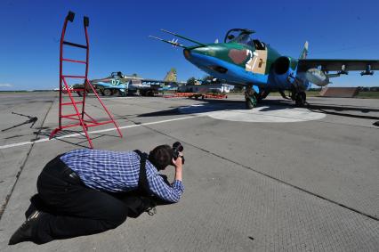
[[[325,71],[365,71],[379,70],[379,60],[324,60],[324,59],[300,59],[299,71],[317,69],[321,66]]]

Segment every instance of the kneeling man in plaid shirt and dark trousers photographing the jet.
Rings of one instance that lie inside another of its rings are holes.
[[[37,179],[27,220],[9,244],[37,244],[114,229],[129,215],[154,207],[154,198],[178,202],[184,187],[183,147],[159,145],[154,150],[71,150],[52,159]],[[158,172],[172,165],[174,181]],[[132,192],[132,194],[129,194]],[[129,196],[133,195],[133,196]]]

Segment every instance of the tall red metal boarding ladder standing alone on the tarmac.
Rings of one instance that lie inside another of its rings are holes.
[[[113,124],[114,126],[116,126],[117,132],[120,135],[120,137],[123,137],[123,134],[121,134],[121,131],[118,128],[116,121],[114,120],[114,118],[110,114],[110,112],[107,109],[107,107],[101,101],[101,99],[99,97],[99,94],[96,92],[95,88],[93,88],[93,85],[91,84],[91,82],[88,80],[88,63],[89,63],[88,59],[89,59],[89,49],[90,49],[90,47],[89,47],[89,39],[88,39],[88,32],[87,32],[87,27],[89,26],[89,19],[88,19],[88,17],[84,17],[85,42],[86,42],[86,45],[78,45],[78,44],[75,44],[75,43],[68,42],[68,41],[66,41],[64,39],[65,33],[66,33],[66,28],[67,28],[67,23],[68,23],[68,21],[72,22],[74,20],[74,17],[75,17],[75,13],[74,12],[69,12],[69,14],[67,15],[66,19],[64,20],[63,29],[62,29],[62,33],[61,33],[61,36],[60,36],[60,108],[59,108],[59,126],[52,131],[52,134],[50,134],[50,139],[52,139],[52,137],[55,134],[57,134],[58,132],[60,132],[60,130],[62,130],[62,129],[66,129],[66,128],[74,127],[74,126],[82,126],[83,131],[85,132],[85,137],[87,138],[87,140],[89,142],[90,148],[93,149],[93,142],[91,141],[91,138],[90,138],[90,136],[88,134],[88,128],[89,127],[101,126],[101,125],[105,125],[105,124]],[[86,50],[85,61],[77,61],[77,60],[71,60],[71,59],[64,58],[63,57],[63,46],[64,45],[74,46],[74,47],[77,47],[77,48],[83,48],[83,49],[85,49]],[[63,75],[63,61],[69,61],[71,63],[85,64],[85,76]],[[85,83],[84,88],[70,89],[69,85],[68,85],[68,80],[67,80],[68,78],[79,78],[79,79],[81,78],[81,79],[84,79],[85,80],[84,81],[84,83]],[[63,92],[62,92],[63,90],[62,89],[63,89],[63,85],[65,87],[64,92],[69,94],[69,101],[70,102],[62,102],[62,94],[63,94]],[[109,115],[109,120],[99,122],[99,121],[95,120],[94,118],[90,117],[85,112],[85,97],[86,97],[87,91],[90,88],[93,91],[93,93],[96,96],[96,98],[101,103],[102,108]],[[82,101],[80,101],[80,102],[75,101],[74,97],[72,96],[72,92],[83,92]],[[77,104],[82,104],[81,111],[77,108]],[[68,114],[68,115],[62,115],[62,108],[63,108],[63,106],[69,106],[69,105],[73,106],[73,108],[75,110],[75,113],[74,114]],[[88,119],[85,119],[85,116]],[[62,126],[62,118],[68,118],[68,119],[71,119],[71,120],[77,120],[78,122]]]

